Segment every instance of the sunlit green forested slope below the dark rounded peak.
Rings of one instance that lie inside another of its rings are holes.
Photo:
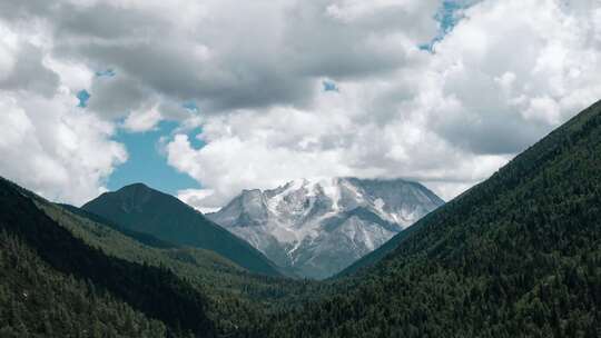
[[[215,324],[218,336],[244,337],[246,328],[260,322],[264,314],[318,297],[328,288],[306,280],[250,274],[214,251],[168,243],[147,233],[124,229],[82,209],[52,203],[30,191],[19,190],[39,211],[87,246],[134,266],[168,269],[189,282],[205,296],[205,312]]]

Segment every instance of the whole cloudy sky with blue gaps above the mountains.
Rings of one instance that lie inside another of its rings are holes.
[[[76,205],[327,176],[451,199],[599,74],[601,0],[2,0],[0,175]]]

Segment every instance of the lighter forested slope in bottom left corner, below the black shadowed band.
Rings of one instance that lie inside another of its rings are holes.
[[[78,310],[75,311],[73,308]],[[165,337],[164,324],[48,266],[18,237],[0,231],[0,337]]]

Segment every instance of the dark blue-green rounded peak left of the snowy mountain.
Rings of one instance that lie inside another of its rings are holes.
[[[177,198],[141,183],[102,193],[82,209],[128,230],[149,233],[176,245],[215,251],[249,271],[280,276],[277,268],[246,241]]]

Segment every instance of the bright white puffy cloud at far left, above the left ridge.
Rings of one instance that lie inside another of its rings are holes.
[[[52,200],[79,205],[96,197],[127,159],[110,140],[112,123],[76,108],[69,81],[61,81],[69,64],[57,67],[59,76],[51,68],[58,63],[47,62],[30,36],[0,30],[11,37],[9,48],[0,43],[0,54],[16,60],[0,66],[0,175]]]

